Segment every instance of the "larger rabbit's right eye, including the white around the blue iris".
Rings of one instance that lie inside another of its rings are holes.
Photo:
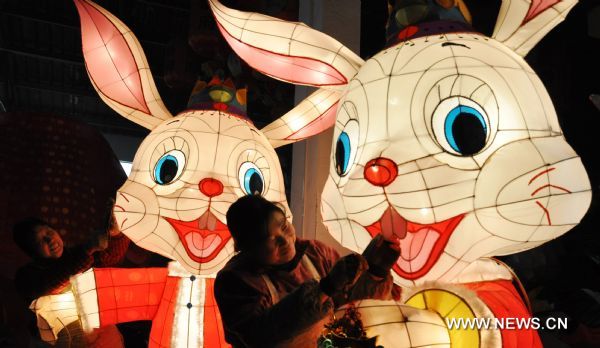
[[[464,98],[461,99],[459,102],[465,101]],[[448,109],[450,110],[446,111]],[[459,103],[441,110],[438,108],[434,112],[434,124],[437,124],[436,138],[440,145],[459,156],[479,153],[485,148],[490,135],[487,115],[475,105]]]

